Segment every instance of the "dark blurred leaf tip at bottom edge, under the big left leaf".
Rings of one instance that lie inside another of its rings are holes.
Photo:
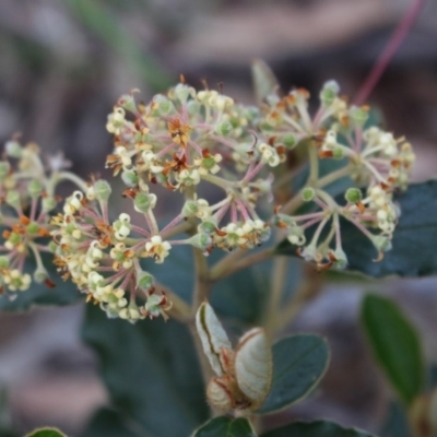
[[[81,437],[145,437],[142,427],[120,413],[102,408],[97,410]]]

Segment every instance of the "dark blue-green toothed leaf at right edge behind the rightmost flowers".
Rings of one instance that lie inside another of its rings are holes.
[[[347,270],[374,277],[425,276],[437,274],[437,180],[412,185],[397,194],[401,216],[395,227],[392,249],[381,261],[375,262],[377,250],[352,223],[342,221],[343,249],[347,256]],[[287,240],[280,244],[277,253],[296,256],[296,248]]]

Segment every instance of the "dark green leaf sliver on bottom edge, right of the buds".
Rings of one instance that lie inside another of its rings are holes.
[[[261,437],[375,437],[356,428],[343,428],[334,422],[296,422],[263,434]]]

